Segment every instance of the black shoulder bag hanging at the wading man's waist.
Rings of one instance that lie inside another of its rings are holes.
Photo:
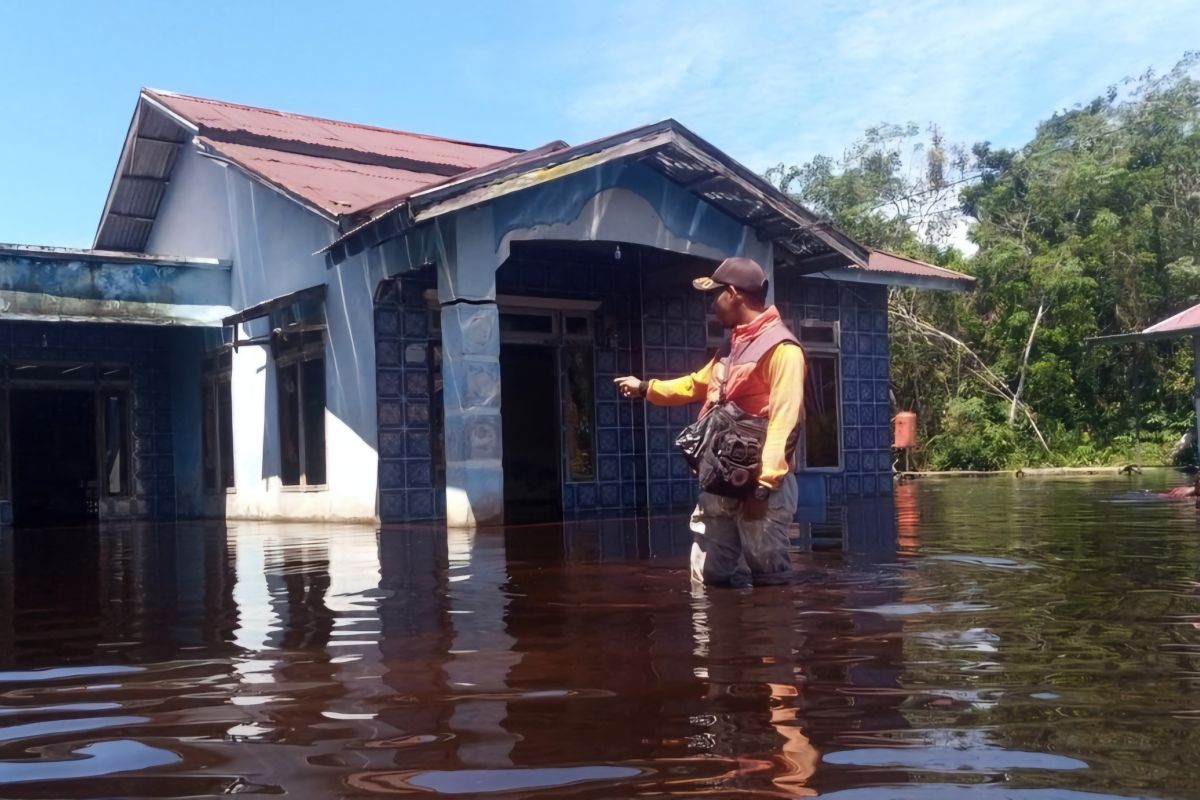
[[[758,485],[766,439],[764,417],[726,401],[680,431],[676,446],[700,477],[701,492],[742,499]]]

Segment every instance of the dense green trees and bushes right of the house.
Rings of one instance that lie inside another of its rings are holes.
[[[1055,113],[1014,150],[881,125],[841,158],[768,172],[863,243],[976,277],[966,295],[892,293],[892,390],[923,465],[1148,463],[1192,426],[1190,342],[1087,339],[1200,301],[1198,65]],[[971,255],[952,246],[964,229]]]

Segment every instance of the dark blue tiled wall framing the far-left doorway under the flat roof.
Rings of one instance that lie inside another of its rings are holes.
[[[128,498],[103,499],[102,519],[175,516],[170,336],[169,330],[134,325],[0,323],[0,357],[130,366],[133,492]]]

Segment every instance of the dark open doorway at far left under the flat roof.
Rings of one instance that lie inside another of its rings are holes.
[[[95,393],[14,389],[10,432],[13,522],[26,527],[95,521]]]

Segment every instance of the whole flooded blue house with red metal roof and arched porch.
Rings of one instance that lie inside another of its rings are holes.
[[[617,397],[772,276],[805,345],[802,503],[892,492],[863,247],[667,120],[515,150],[143,90],[90,249],[0,246],[0,516],[502,521],[690,509],[695,409]]]

